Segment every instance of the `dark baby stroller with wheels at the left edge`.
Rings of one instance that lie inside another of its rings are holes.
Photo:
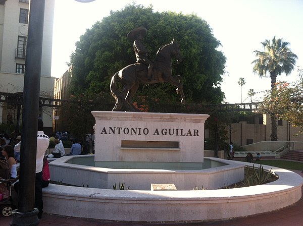
[[[0,159],[0,211],[4,216],[13,212],[12,183],[8,181],[10,168],[6,160]]]

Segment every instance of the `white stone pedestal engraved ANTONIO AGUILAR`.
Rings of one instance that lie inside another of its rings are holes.
[[[96,162],[203,162],[209,115],[92,111]]]

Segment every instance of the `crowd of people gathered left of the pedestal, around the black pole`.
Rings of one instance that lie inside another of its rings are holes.
[[[71,141],[72,145],[70,153],[66,154],[64,147],[65,141]],[[37,150],[36,150],[36,166],[35,166],[35,200],[34,207],[39,210],[38,218],[42,217],[43,213],[43,200],[42,188],[47,187],[51,180],[48,168],[47,157],[60,158],[65,155],[80,155],[88,154],[92,151],[94,135],[86,134],[82,141],[73,138],[67,132],[57,132],[47,136],[43,132],[43,122],[38,120],[38,133],[37,133]],[[52,154],[45,155],[46,150],[49,148],[50,142],[54,142],[55,147]],[[20,155],[22,158],[21,150],[21,134],[16,135],[13,131],[11,135],[2,131],[0,133],[0,160],[5,162],[9,168],[9,174],[5,177],[13,183],[14,190],[19,193],[19,168],[18,162]],[[2,178],[0,178],[2,179]]]

